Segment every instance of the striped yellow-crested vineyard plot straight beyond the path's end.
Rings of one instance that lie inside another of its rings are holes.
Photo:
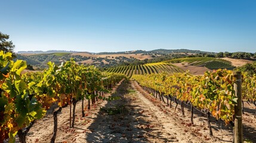
[[[121,66],[115,67],[107,70],[110,73],[122,73],[127,77],[132,77],[134,74],[151,74],[151,73],[180,73],[184,72],[177,66],[168,63],[148,63],[148,64],[140,64],[140,65],[129,65],[129,66]]]

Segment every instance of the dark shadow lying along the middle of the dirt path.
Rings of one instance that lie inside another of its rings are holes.
[[[128,80],[124,80],[116,89],[112,97],[120,100],[108,101],[101,107],[100,113],[95,117],[94,123],[88,128],[87,142],[149,142],[145,136],[160,138],[150,135],[150,122],[143,120],[144,108],[140,105],[131,105],[135,102],[135,93]],[[172,142],[164,138],[166,142]]]

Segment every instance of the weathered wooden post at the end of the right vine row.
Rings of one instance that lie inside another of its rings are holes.
[[[241,71],[235,73],[236,82],[234,84],[235,96],[238,98],[238,104],[235,105],[235,143],[243,142],[243,125],[242,125],[242,74]]]

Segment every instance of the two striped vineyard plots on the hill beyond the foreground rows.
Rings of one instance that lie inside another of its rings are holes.
[[[119,66],[110,68],[107,71],[110,73],[122,73],[131,78],[134,74],[151,74],[151,73],[184,73],[184,70],[175,66],[172,63],[187,63],[191,66],[204,66],[207,69],[234,69],[230,61],[211,58],[211,57],[192,57],[192,58],[177,58],[173,60],[163,61],[160,63],[147,63],[140,65]]]

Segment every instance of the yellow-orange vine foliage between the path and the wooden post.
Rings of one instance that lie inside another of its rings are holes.
[[[232,71],[206,71],[204,76],[186,73],[134,75],[141,86],[153,89],[161,95],[190,102],[193,107],[208,110],[216,119],[229,123],[233,121],[237,98],[233,89],[235,77]]]

